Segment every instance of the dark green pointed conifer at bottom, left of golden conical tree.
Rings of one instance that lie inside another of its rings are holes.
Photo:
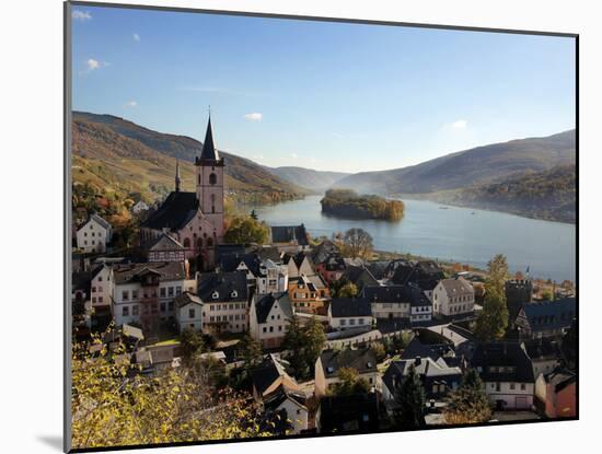
[[[417,429],[425,421],[425,389],[414,364],[409,365],[402,385],[395,392],[397,409],[394,412],[394,423],[398,429]]]

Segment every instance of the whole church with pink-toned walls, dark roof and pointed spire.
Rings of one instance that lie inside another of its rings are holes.
[[[223,158],[213,142],[211,117],[200,156],[195,159],[196,191],[181,190],[180,163],[176,163],[175,190],[140,225],[140,242],[148,249],[164,235],[175,238],[186,259],[198,270],[215,264],[216,245],[223,242]]]

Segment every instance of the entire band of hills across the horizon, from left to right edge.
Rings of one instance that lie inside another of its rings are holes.
[[[72,136],[76,184],[90,183],[153,201],[172,190],[178,159],[184,189],[194,188],[193,161],[202,143],[193,138],[82,112],[73,113]],[[238,201],[279,202],[341,188],[563,222],[575,222],[576,218],[575,130],[477,147],[408,167],[357,174],[267,167],[220,153],[228,163],[227,197]]]

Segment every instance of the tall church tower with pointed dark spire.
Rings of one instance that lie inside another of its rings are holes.
[[[204,235],[204,247],[211,248],[223,241],[223,158],[219,156],[213,142],[211,114],[207,123],[202,151],[195,165],[197,199],[204,218],[213,230],[207,236]]]

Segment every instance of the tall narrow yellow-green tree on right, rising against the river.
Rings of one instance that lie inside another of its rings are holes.
[[[488,276],[485,279],[485,299],[483,311],[478,314],[475,335],[481,340],[501,339],[508,327],[508,305],[506,302],[506,278],[508,261],[501,254],[488,263]]]

